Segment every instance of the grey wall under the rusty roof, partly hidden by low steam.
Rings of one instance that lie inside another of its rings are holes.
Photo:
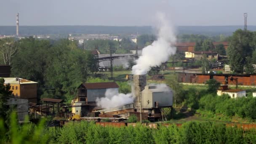
[[[88,102],[96,101],[97,97],[105,97],[106,91],[111,90],[113,93],[118,93],[118,88],[102,88],[102,89],[88,89],[87,100]]]

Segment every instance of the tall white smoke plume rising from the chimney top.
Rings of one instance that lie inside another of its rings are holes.
[[[159,23],[157,26],[157,40],[151,45],[142,49],[142,55],[136,60],[136,65],[132,67],[134,75],[145,75],[151,67],[160,66],[168,61],[169,56],[176,53],[176,42],[174,31],[163,13],[158,13]]]

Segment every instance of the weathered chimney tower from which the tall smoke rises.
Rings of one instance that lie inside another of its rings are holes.
[[[134,87],[134,95],[135,101],[133,103],[133,107],[140,107],[140,95],[141,91],[144,90],[147,85],[146,75],[133,75],[133,87]]]

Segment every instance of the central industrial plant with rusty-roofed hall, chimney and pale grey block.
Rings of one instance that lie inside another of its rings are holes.
[[[87,116],[128,118],[136,115],[138,120],[157,120],[166,117],[163,108],[171,109],[173,93],[165,85],[147,85],[146,75],[133,75],[134,102],[116,108],[101,108],[96,105],[96,98],[105,97],[106,91],[118,93],[119,86],[115,82],[85,83],[78,87],[77,98],[72,101],[72,113],[80,115],[83,119]],[[99,114],[101,113],[101,114]]]

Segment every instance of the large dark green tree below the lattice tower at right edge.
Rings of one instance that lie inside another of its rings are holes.
[[[253,32],[248,30],[236,30],[229,42],[227,56],[231,70],[235,73],[243,73],[246,57],[251,57],[253,52]]]

